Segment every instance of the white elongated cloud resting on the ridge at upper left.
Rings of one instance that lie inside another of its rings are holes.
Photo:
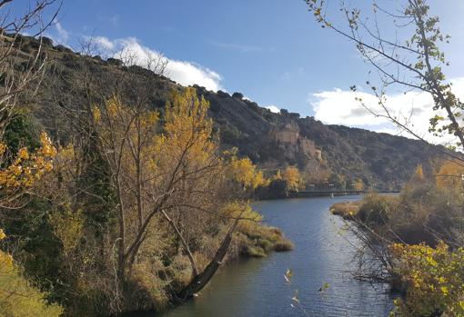
[[[163,54],[141,45],[135,37],[110,40],[104,36],[94,37],[95,43],[106,57],[130,55],[129,64],[147,66],[150,61],[166,60],[166,76],[178,84],[198,84],[208,90],[224,90],[221,85],[222,77],[216,72],[199,64],[169,59]]]

